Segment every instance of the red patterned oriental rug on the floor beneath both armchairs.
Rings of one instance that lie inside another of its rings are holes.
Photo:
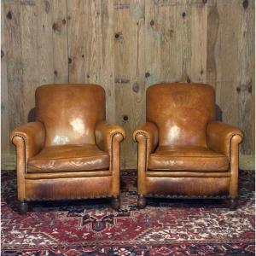
[[[2,255],[254,255],[254,172],[240,172],[239,207],[224,200],[151,199],[138,210],[136,172],[108,200],[34,202],[17,213],[15,172],[2,172]]]

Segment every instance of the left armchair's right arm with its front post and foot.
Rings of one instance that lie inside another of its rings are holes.
[[[111,125],[101,121],[96,125],[96,145],[110,155],[109,169],[112,172],[112,207],[120,207],[120,143],[125,138],[125,130],[119,125]]]

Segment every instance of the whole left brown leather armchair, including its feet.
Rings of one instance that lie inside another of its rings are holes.
[[[46,84],[36,90],[36,122],[11,133],[17,149],[20,211],[27,201],[112,197],[119,208],[119,143],[125,131],[105,121],[96,84]]]

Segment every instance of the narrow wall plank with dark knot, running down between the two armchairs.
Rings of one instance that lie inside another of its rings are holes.
[[[131,15],[131,34],[130,44],[131,49],[131,131],[129,132],[131,143],[130,160],[128,159],[127,168],[137,167],[137,143],[132,141],[132,133],[137,125],[140,125],[145,120],[146,102],[145,102],[145,1],[131,0],[130,2]]]

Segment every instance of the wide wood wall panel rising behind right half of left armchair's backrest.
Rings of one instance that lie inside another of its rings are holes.
[[[115,121],[113,1],[67,1],[69,83],[101,84]]]

